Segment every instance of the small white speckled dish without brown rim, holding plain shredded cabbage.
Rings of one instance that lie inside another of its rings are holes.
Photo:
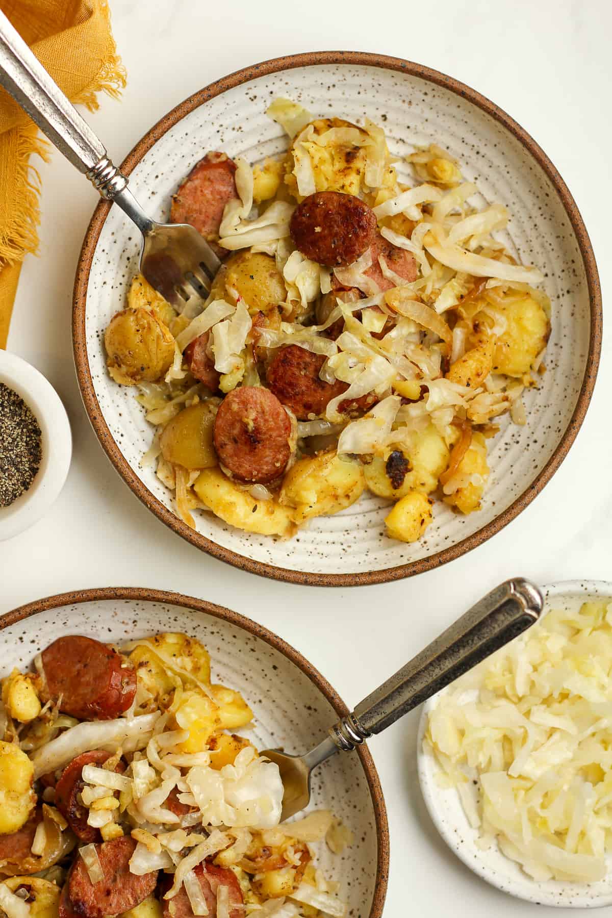
[[[612,600],[612,583],[570,580],[551,584],[543,589],[543,593],[545,612],[549,609],[577,610],[590,599]],[[423,749],[428,713],[436,707],[444,690],[423,707],[418,728],[417,762],[418,779],[429,815],[451,851],[487,883],[518,899],[560,908],[586,909],[612,905],[612,856],[607,857],[608,876],[598,883],[565,883],[559,880],[539,883],[528,877],[515,861],[503,855],[496,845],[484,851],[476,845],[478,833],[467,821],[459,794],[455,789],[439,787],[437,776],[440,767]]]

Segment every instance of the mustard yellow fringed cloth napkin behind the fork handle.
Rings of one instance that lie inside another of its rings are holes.
[[[118,96],[126,76],[117,57],[106,0],[0,0],[0,9],[72,102],[91,111],[95,94]],[[49,145],[5,90],[0,89],[0,348],[26,252],[36,252],[39,174],[33,153]]]

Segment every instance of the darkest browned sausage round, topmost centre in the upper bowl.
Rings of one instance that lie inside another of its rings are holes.
[[[357,261],[372,244],[376,217],[359,197],[318,191],[295,207],[289,229],[306,258],[339,267]]]

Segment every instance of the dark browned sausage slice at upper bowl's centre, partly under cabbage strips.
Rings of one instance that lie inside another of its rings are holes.
[[[297,420],[308,420],[310,415],[322,415],[332,398],[349,388],[339,379],[326,383],[319,377],[325,363],[323,354],[311,353],[296,344],[281,348],[268,367],[268,386],[274,395],[291,409]],[[340,414],[360,414],[378,401],[376,396],[349,398],[338,406]]]

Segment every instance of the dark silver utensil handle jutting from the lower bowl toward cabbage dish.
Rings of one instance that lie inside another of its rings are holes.
[[[331,727],[331,739],[339,749],[350,750],[381,733],[530,628],[542,607],[540,590],[529,580],[506,580]]]

